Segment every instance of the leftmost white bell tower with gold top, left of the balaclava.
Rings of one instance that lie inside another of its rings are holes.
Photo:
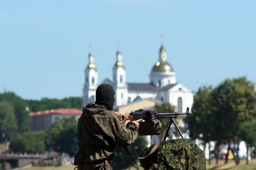
[[[84,83],[84,95],[83,95],[83,106],[87,105],[88,102],[95,102],[96,89],[98,87],[98,71],[94,64],[93,53],[91,53],[91,44],[89,52],[88,65],[85,68],[85,83]]]

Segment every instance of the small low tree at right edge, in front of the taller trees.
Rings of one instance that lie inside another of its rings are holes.
[[[248,148],[256,147],[256,120],[242,124],[239,128],[239,137],[246,143],[246,164],[248,164]]]

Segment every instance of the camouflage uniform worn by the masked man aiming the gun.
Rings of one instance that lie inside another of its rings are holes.
[[[111,170],[115,146],[125,148],[137,137],[137,125],[128,122],[125,126],[113,111],[103,105],[88,103],[83,107],[77,128],[77,145],[74,165],[78,170]]]

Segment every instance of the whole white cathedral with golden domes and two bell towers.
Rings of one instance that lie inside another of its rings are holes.
[[[105,79],[102,82],[113,86],[116,94],[115,105],[125,106],[131,104],[133,101],[138,101],[139,98],[169,102],[176,107],[176,112],[186,112],[186,107],[191,108],[193,104],[193,91],[183,83],[176,82],[176,74],[173,67],[166,59],[166,50],[163,47],[162,41],[158,61],[153,65],[150,72],[150,83],[127,83],[126,69],[118,47],[116,63],[112,68],[113,81]],[[98,71],[90,50],[89,62],[85,68],[83,106],[88,102],[95,102],[95,93],[98,85],[100,85],[98,84]]]

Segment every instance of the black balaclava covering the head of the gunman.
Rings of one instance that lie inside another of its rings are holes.
[[[109,111],[113,111],[113,106],[115,103],[115,91],[113,87],[109,84],[101,84],[96,89],[96,101],[98,105],[105,106]]]

